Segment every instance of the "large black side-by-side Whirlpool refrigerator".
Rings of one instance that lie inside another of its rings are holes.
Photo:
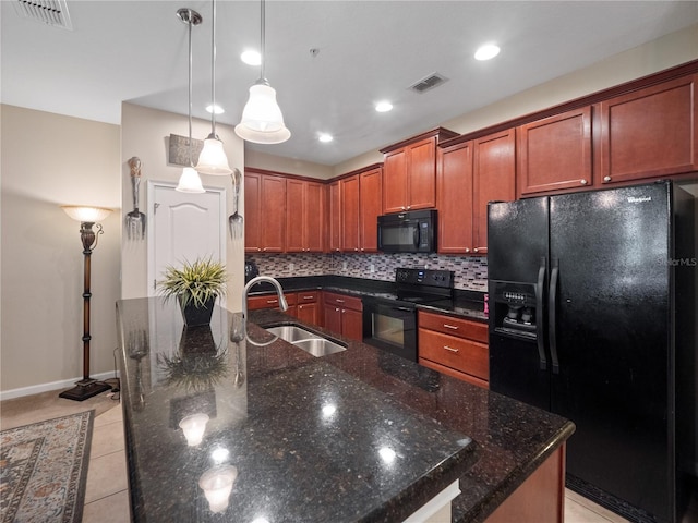
[[[696,473],[695,200],[672,182],[489,205],[490,388],[571,419],[567,486],[681,521]]]

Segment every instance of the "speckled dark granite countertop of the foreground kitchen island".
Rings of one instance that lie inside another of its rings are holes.
[[[298,324],[279,312],[246,329],[218,307],[184,329],[161,299],[117,312],[134,521],[399,522],[454,484],[453,520],[484,521],[574,431],[363,343],[314,357],[260,327]]]

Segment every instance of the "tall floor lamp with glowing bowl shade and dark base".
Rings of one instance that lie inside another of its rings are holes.
[[[75,387],[58,394],[60,398],[83,401],[97,396],[111,386],[97,381],[89,377],[89,267],[93,250],[97,246],[98,235],[103,233],[101,226],[97,223],[111,214],[111,209],[103,207],[81,207],[77,205],[63,205],[61,208],[73,220],[80,221],[80,239],[83,242],[84,263],[84,292],[83,292],[83,379],[75,382]],[[93,231],[93,226],[97,230]]]

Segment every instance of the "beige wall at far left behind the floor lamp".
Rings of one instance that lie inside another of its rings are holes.
[[[60,205],[116,209],[92,255],[92,374],[113,370],[119,126],[2,106],[0,390],[82,377],[83,247]]]

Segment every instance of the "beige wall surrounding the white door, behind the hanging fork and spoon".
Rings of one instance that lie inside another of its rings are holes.
[[[210,133],[210,122],[194,120],[192,136],[205,138]],[[244,168],[243,142],[231,126],[216,125],[216,133],[224,143],[228,162],[242,172]],[[169,135],[189,135],[185,115],[148,109],[133,104],[123,104],[121,109],[121,183],[123,208],[131,210],[133,193],[131,191],[129,158],[141,159],[141,210],[147,216],[152,209],[147,202],[147,181],[177,183],[182,172],[180,166],[168,165]],[[226,190],[226,216],[232,214],[232,179],[202,174],[204,187],[224,187]],[[244,216],[244,192],[240,192],[240,211]],[[244,284],[244,242],[232,242],[227,234],[227,268],[229,272],[227,308],[240,311],[242,307],[242,287]],[[129,241],[125,235],[121,243],[121,271],[123,299],[148,295],[147,289],[147,243]]]

